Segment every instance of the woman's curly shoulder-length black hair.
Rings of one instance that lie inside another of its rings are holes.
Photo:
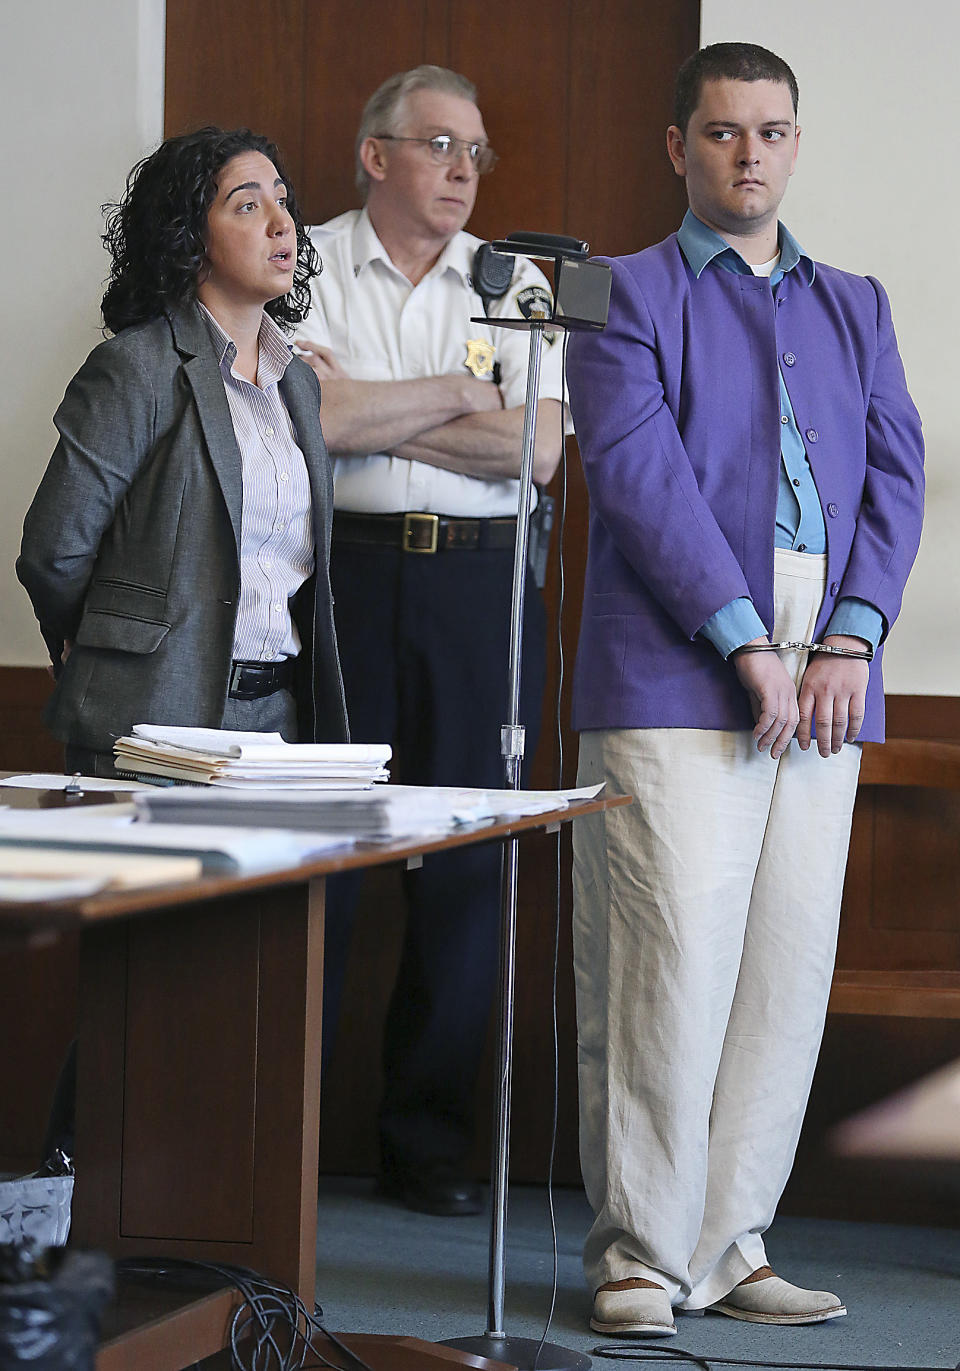
[[[276,144],[250,129],[225,132],[210,126],[167,138],[130,171],[119,203],[103,206],[107,219],[103,245],[112,256],[112,266],[100,308],[112,333],[196,299],[217,175],[240,152],[262,152],[273,162],[287,186],[287,208],[296,225],[293,285],[287,295],[270,300],[266,313],[283,328],[304,318],[310,308],[310,281],[321,265]]]

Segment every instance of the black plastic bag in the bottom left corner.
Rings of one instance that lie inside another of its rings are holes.
[[[103,1252],[0,1246],[0,1371],[93,1371],[112,1293]]]

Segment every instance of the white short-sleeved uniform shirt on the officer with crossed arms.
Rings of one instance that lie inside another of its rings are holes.
[[[483,239],[457,233],[422,281],[411,285],[389,260],[366,210],[348,210],[311,229],[310,237],[324,270],[310,287],[310,314],[299,332],[332,348],[350,377],[407,381],[465,372],[468,340],[479,339],[495,348],[505,407],[524,403],[529,333],[470,322],[487,313],[473,289],[473,254]],[[513,281],[491,302],[490,314],[521,318],[531,288],[550,289],[536,266],[517,258]],[[560,336],[543,344],[540,399],[561,399],[561,351]],[[355,513],[425,510],[468,518],[517,513],[516,480],[464,476],[387,452],[335,458],[333,481],[336,507]]]

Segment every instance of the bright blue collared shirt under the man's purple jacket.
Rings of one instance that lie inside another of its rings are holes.
[[[719,233],[708,228],[702,219],[698,219],[693,210],[687,210],[683,218],[677,241],[690,270],[697,277],[712,262],[716,262],[723,270],[734,271],[739,276],[756,274],[739,252],[731,248]],[[776,287],[787,271],[795,269],[804,271],[808,276],[808,284],[812,284],[816,274],[816,265],[812,258],[806,256],[783,223],[779,225],[779,247],[780,260],[769,276],[771,289],[776,291]],[[791,548],[795,553],[826,553],[827,529],[823,520],[823,510],[820,509],[820,498],[790,395],[783,380],[782,367],[779,367],[779,380],[782,425],[780,474],[773,546]],[[867,600],[845,596],[838,600],[826,633],[849,633],[865,639],[876,648],[883,631],[883,616],[878,609]],[[716,614],[712,614],[702,625],[701,633],[713,643],[723,657],[728,657],[735,648],[742,647],[743,643],[749,643],[754,638],[765,638],[767,628],[760,614],[757,614],[753,602],[741,598],[730,600]]]

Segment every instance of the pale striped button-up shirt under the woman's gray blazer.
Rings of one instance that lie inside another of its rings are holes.
[[[233,370],[236,343],[210,310],[203,304],[200,310],[219,354],[243,470],[240,609],[233,657],[274,662],[300,650],[289,602],[314,569],[310,480],[280,395],[291,351],[265,314],[254,385]]]

